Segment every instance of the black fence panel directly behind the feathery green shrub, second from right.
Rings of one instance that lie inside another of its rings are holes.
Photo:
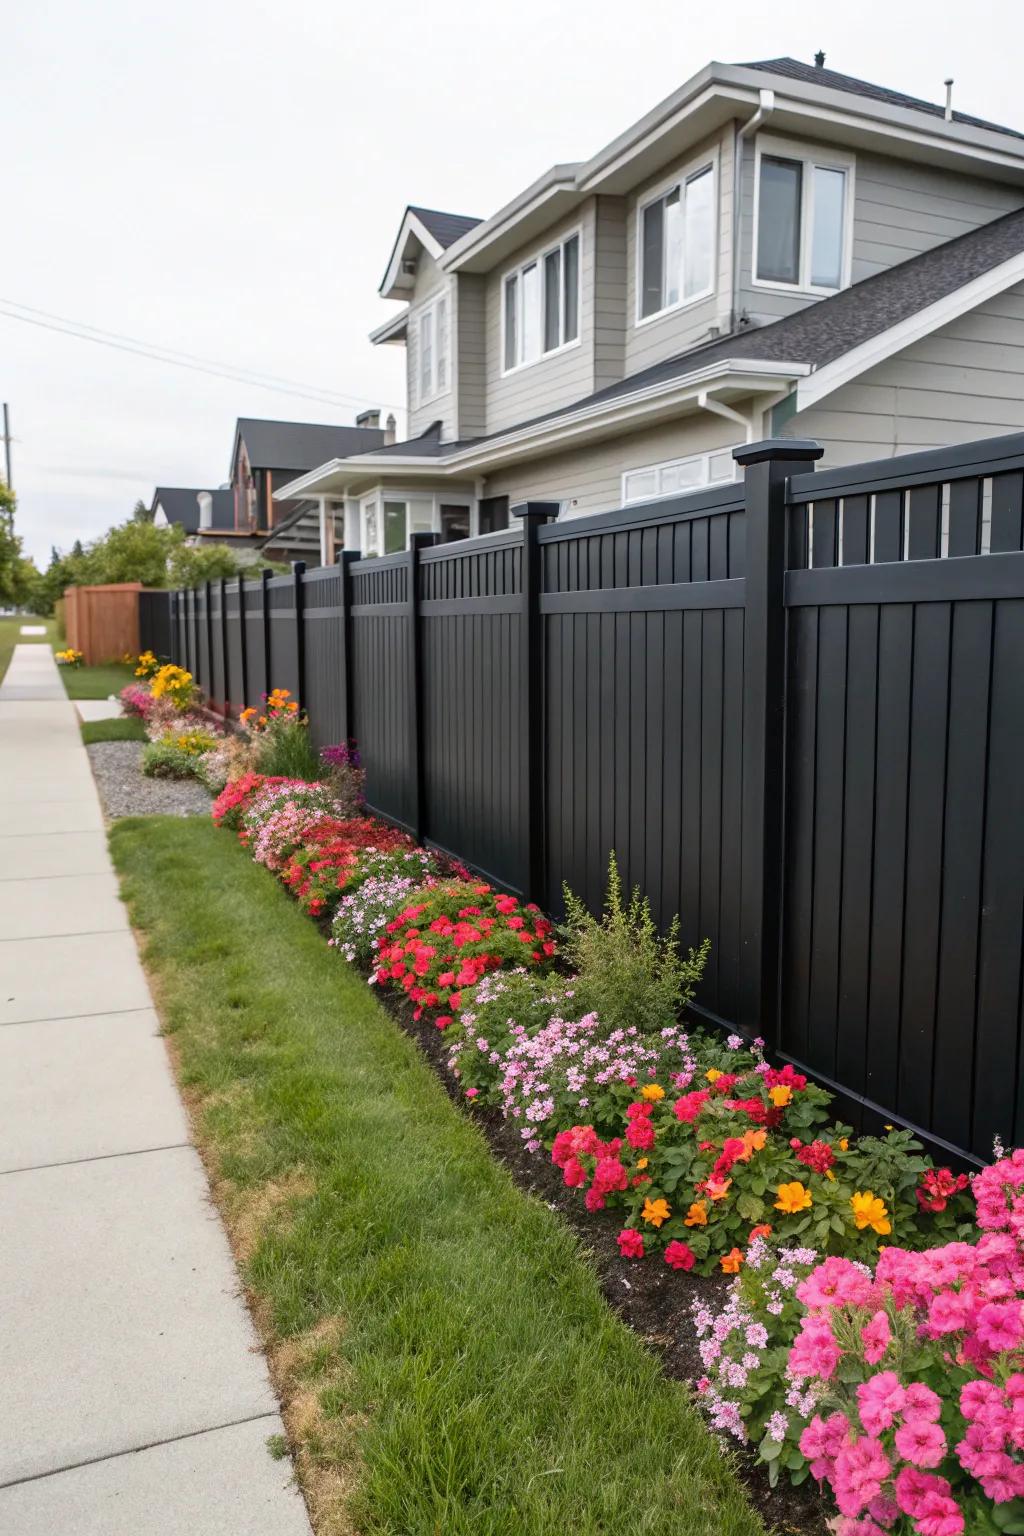
[[[608,854],[683,942],[702,1005],[735,1018],[743,748],[738,487],[554,524],[543,562],[547,905],[599,908]]]

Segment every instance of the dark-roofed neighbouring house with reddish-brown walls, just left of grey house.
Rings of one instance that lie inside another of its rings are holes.
[[[230,462],[233,538],[253,538],[269,559],[301,559],[321,547],[321,507],[309,498],[275,499],[296,475],[325,459],[372,453],[395,439],[395,422],[379,425],[379,410],[356,416],[355,427],[241,416]],[[333,525],[325,530],[333,538]]]

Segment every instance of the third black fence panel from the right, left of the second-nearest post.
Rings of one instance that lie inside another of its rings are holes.
[[[425,831],[522,889],[522,530],[419,564]]]

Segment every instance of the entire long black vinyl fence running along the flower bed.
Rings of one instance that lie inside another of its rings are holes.
[[[597,906],[614,848],[711,937],[706,1017],[984,1158],[1024,1140],[1024,435],[737,456],[737,485],[173,593],[166,650],[226,711],[290,688],[375,811],[550,909],[563,880]]]

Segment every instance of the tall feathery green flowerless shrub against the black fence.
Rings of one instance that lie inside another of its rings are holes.
[[[636,1025],[654,1032],[674,1025],[703,975],[709,940],[683,958],[679,917],[662,935],[639,886],[625,900],[614,851],[608,859],[608,894],[600,917],[594,917],[568,885],[563,895],[567,922],[560,951],[568,968],[577,972],[573,1017],[596,1012],[609,1031]]]

